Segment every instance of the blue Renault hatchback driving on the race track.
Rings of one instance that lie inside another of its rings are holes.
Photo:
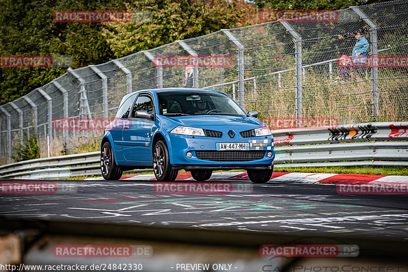
[[[254,183],[273,171],[273,138],[257,112],[245,113],[226,94],[166,88],[123,97],[101,142],[100,167],[107,180],[123,171],[153,168],[159,181],[181,169],[195,180],[215,170],[244,169]]]

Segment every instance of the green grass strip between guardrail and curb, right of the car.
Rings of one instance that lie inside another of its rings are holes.
[[[408,176],[406,167],[275,167],[274,172],[300,173],[334,173],[334,174],[367,174],[367,175],[397,175]]]

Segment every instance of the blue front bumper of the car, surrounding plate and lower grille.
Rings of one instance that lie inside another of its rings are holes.
[[[225,134],[225,133],[224,133]],[[264,137],[241,138],[236,137],[230,139],[227,137],[212,138],[201,136],[188,136],[169,133],[170,146],[170,164],[174,169],[180,170],[232,170],[232,169],[271,169],[275,151],[273,149],[272,135]],[[265,142],[265,144],[262,143]],[[199,159],[196,151],[215,151],[217,143],[249,143],[250,151],[264,151],[264,155],[260,159],[249,161],[213,161],[210,159]],[[259,144],[261,143],[261,144]],[[187,152],[191,152],[192,156],[187,157]],[[267,153],[271,152],[272,156],[268,157]]]

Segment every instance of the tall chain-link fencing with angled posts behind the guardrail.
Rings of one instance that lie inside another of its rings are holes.
[[[245,111],[257,111],[271,128],[313,126],[319,120],[320,125],[406,121],[407,26],[408,3],[398,0],[221,30],[68,69],[0,106],[0,158],[11,162],[11,147],[33,132],[41,156],[48,155],[47,146],[52,156],[72,153],[100,138],[103,130],[58,129],[56,120],[113,118],[126,93],[183,87],[186,65],[158,65],[158,58],[231,60],[225,65],[194,65],[192,87],[230,95]],[[354,31],[367,41],[360,56],[354,56]]]

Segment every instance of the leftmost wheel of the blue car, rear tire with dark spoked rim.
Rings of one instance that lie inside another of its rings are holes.
[[[112,146],[106,142],[100,150],[100,172],[106,180],[119,180],[123,171],[116,165]]]

